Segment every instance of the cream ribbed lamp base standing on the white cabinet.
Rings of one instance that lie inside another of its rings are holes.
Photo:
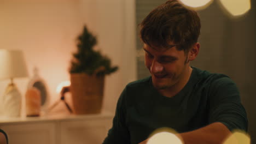
[[[14,83],[10,83],[3,95],[4,116],[21,116],[21,94]]]

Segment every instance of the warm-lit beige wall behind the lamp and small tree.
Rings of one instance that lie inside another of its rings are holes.
[[[114,112],[127,82],[136,80],[134,0],[0,1],[0,49],[24,52],[30,77],[14,79],[24,97],[33,68],[48,84],[51,103],[57,85],[69,80],[75,38],[87,25],[103,54],[119,70],[107,76],[104,110]],[[0,59],[1,60],[1,59]],[[9,80],[0,81],[0,95]]]

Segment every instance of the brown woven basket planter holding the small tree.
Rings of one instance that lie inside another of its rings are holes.
[[[101,113],[104,76],[71,74],[71,94],[74,113]]]

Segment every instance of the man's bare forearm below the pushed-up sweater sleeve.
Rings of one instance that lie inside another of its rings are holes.
[[[184,144],[217,144],[223,143],[225,139],[228,138],[229,135],[231,135],[231,132],[223,123],[216,122],[197,130],[176,135],[182,139]],[[148,140],[149,139],[139,144],[146,144]]]

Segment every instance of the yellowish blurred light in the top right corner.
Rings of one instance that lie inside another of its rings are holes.
[[[251,0],[220,0],[220,3],[233,16],[245,14],[251,9]]]

